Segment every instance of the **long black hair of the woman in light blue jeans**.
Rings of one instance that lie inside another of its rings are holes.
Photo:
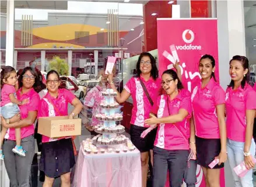
[[[242,82],[241,82],[241,87],[244,89],[244,86],[246,85],[246,82],[249,82],[250,80],[250,69],[249,69],[249,60],[247,59],[246,56],[240,56],[240,55],[236,55],[233,56],[232,59],[229,61],[229,64],[233,61],[233,60],[237,60],[240,61],[240,63],[242,64],[244,70],[248,69],[248,72],[246,74],[246,76],[244,76]],[[232,87],[234,88],[234,81],[231,80],[230,84],[227,85],[227,87]]]

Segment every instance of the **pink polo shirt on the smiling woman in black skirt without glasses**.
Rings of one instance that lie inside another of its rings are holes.
[[[195,121],[195,135],[206,139],[219,139],[216,106],[225,103],[225,91],[213,78],[205,88],[202,82],[194,88],[191,100]]]

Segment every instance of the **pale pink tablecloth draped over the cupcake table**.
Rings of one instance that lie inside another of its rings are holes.
[[[86,154],[80,146],[73,187],[141,187],[141,156],[127,153]]]

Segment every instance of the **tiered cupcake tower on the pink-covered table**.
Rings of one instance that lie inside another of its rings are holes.
[[[102,135],[94,136],[93,144],[116,145],[125,143],[126,137],[118,135],[125,132],[125,128],[116,124],[116,121],[122,120],[119,104],[114,99],[114,96],[117,96],[117,92],[114,92],[113,89],[103,89],[101,93],[104,96],[100,103],[101,113],[95,116],[101,123],[95,127],[95,131]]]

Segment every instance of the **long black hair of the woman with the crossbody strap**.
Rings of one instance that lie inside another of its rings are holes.
[[[148,52],[142,52],[141,55],[139,55],[139,59],[138,59],[138,62],[136,64],[136,71],[137,71],[136,77],[141,76],[141,69],[139,69],[139,67],[141,66],[141,59],[144,56],[149,57],[150,62],[151,62],[151,66],[152,66],[152,69],[150,71],[150,75],[153,78],[153,80],[156,80],[156,78],[158,78],[158,70],[157,70],[157,67],[156,67],[156,59]]]

